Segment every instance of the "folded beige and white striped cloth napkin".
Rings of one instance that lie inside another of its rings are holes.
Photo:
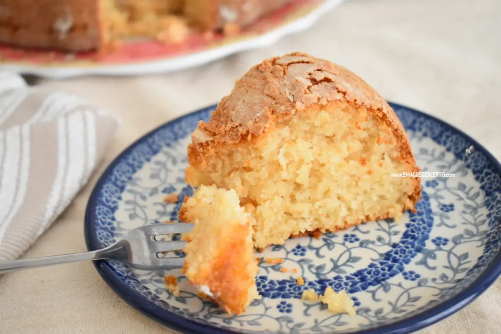
[[[0,260],[23,254],[68,206],[118,127],[76,96],[0,72]]]

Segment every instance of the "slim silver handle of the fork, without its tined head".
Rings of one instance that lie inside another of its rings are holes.
[[[53,264],[78,262],[86,260],[99,260],[103,258],[116,258],[116,256],[113,255],[114,253],[116,253],[117,250],[118,249],[116,247],[114,248],[107,247],[83,253],[35,257],[21,260],[0,261],[0,274],[22,269],[44,267]]]

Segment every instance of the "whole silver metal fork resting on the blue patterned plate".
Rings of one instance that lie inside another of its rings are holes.
[[[182,250],[186,241],[163,241],[157,240],[155,237],[185,233],[190,231],[192,227],[193,224],[187,223],[145,225],[129,231],[120,240],[103,249],[84,253],[0,261],[0,274],[52,264],[100,259],[119,260],[132,268],[143,270],[178,268],[183,265],[184,259],[182,257],[159,257],[159,253]]]

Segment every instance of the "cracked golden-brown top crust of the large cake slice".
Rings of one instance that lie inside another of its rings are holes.
[[[342,66],[299,52],[265,60],[236,82],[210,121],[200,122],[192,134],[189,163],[203,164],[218,146],[257,139],[305,108],[328,104],[366,109],[384,121],[397,139],[400,160],[412,166],[409,172],[419,171],[402,124],[372,87]],[[414,184],[412,206],[421,195],[420,179],[414,178]]]

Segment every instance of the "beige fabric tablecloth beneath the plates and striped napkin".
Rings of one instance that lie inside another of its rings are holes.
[[[87,199],[122,149],[162,122],[217,102],[250,66],[286,52],[342,64],[388,100],[447,120],[501,158],[499,19],[499,0],[348,0],[308,32],[182,73],[42,82],[108,109],[122,117],[123,127],[89,184],[26,256],[85,251]],[[498,280],[471,305],[421,333],[499,333],[500,318]],[[0,277],[0,333],[136,332],[170,331],[117,297],[90,262]]]

